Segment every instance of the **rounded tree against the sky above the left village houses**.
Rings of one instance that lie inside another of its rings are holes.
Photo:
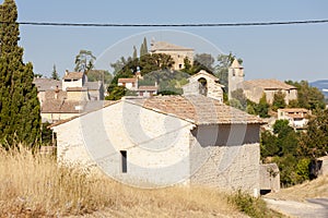
[[[92,55],[89,50],[80,50],[79,55],[75,57],[75,68],[74,71],[86,73],[94,68],[94,61],[96,57]]]

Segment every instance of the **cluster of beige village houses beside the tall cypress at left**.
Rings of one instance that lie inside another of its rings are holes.
[[[87,101],[104,100],[102,82],[87,82],[82,72],[68,72],[61,81],[34,78],[43,122],[58,122],[79,116]]]

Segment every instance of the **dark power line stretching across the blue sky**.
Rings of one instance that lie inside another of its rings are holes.
[[[7,23],[8,22],[1,22]],[[32,26],[75,26],[75,27],[232,27],[232,26],[273,26],[323,24],[328,20],[285,21],[285,22],[250,22],[250,23],[186,23],[186,24],[118,24],[118,23],[58,23],[58,22],[17,22],[20,25]]]

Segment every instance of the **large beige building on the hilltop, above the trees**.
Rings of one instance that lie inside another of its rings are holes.
[[[166,53],[174,60],[173,70],[181,70],[185,68],[185,58],[188,58],[190,63],[194,63],[194,49],[177,46],[166,41],[152,41],[151,53]]]

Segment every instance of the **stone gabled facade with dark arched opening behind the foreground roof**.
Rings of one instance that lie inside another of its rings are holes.
[[[223,85],[214,75],[201,70],[188,78],[188,84],[183,86],[184,95],[203,95],[223,102]]]

